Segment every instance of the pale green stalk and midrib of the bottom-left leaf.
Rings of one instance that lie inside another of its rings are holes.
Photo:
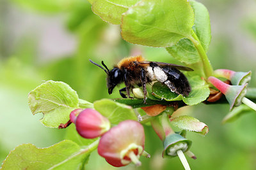
[[[74,157],[77,157],[77,156],[79,156],[79,155],[81,155],[81,154],[93,152],[93,150],[95,150],[95,149],[98,147],[99,141],[100,141],[100,139],[97,139],[97,141],[94,141],[94,142],[93,142],[91,145],[89,145],[87,148],[84,148],[84,149],[79,150],[79,152],[74,153],[73,155],[71,155],[71,156],[68,157],[67,159],[65,159],[65,160],[61,161],[60,163],[58,163],[58,164],[56,164],[56,165],[50,167],[48,170],[54,169],[54,168],[56,168],[56,167],[58,167],[58,166],[61,166],[62,164],[64,164],[64,163],[67,162],[68,160],[71,160],[71,159],[73,159]]]

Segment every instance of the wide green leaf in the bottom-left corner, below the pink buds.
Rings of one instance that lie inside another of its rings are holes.
[[[80,169],[88,153],[81,154],[79,145],[64,140],[48,148],[23,144],[12,150],[3,169]]]

